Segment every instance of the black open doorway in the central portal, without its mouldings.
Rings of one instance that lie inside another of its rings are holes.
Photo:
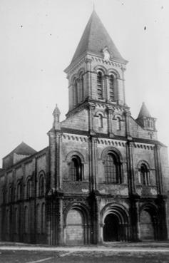
[[[116,215],[109,214],[104,220],[103,240],[105,242],[119,241],[119,220]]]

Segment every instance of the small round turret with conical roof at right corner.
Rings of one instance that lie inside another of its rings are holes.
[[[156,118],[151,117],[148,108],[146,107],[145,103],[143,103],[140,108],[140,113],[138,114],[136,122],[145,130],[156,131],[155,120]]]

